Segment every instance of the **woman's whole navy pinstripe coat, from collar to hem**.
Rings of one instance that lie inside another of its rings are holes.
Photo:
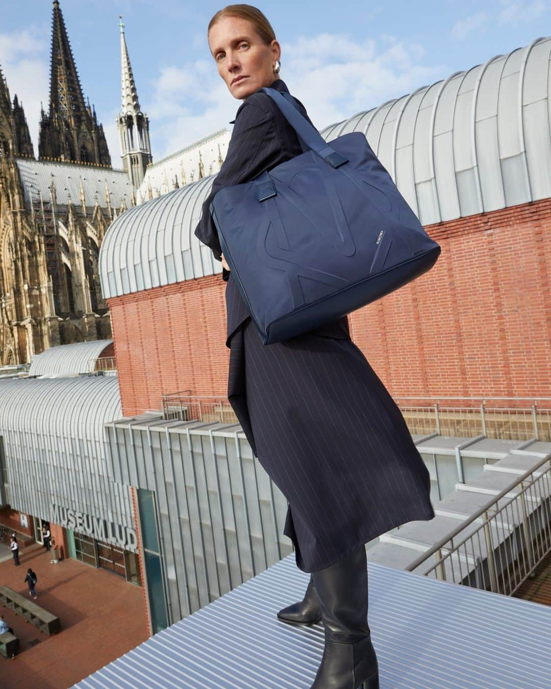
[[[281,79],[271,87],[288,91]],[[214,194],[302,152],[295,131],[262,92],[242,103],[234,122],[195,230],[218,260],[222,250],[209,214]],[[352,342],[348,318],[262,345],[230,271],[222,269],[222,279],[228,399],[253,452],[289,501],[284,533],[298,566],[322,569],[394,526],[432,519],[428,469],[402,413]]]

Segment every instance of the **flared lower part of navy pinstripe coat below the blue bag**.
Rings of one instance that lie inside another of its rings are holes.
[[[249,438],[289,500],[300,569],[333,564],[413,520],[430,520],[430,477],[402,413],[350,339],[314,332],[264,346],[251,320],[231,338]],[[237,413],[237,411],[236,411]],[[250,442],[250,440],[249,440]]]

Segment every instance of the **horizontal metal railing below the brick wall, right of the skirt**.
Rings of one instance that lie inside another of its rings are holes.
[[[410,433],[551,441],[551,398],[400,397]]]

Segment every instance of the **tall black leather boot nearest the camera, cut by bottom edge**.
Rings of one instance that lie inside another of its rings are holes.
[[[378,689],[379,667],[367,622],[364,546],[313,573],[325,626],[322,662],[311,689]]]

